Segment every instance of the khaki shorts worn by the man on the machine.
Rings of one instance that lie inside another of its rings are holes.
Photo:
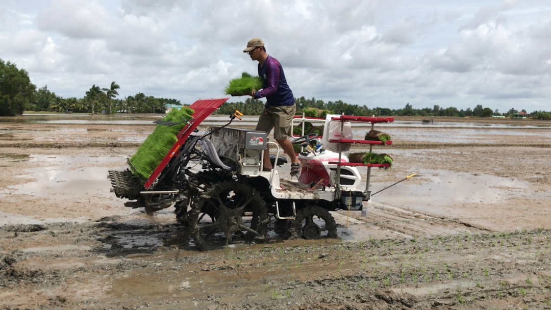
[[[258,118],[256,130],[269,134],[274,128],[274,138],[276,140],[287,140],[291,136],[291,123],[293,123],[295,111],[296,105],[267,106]]]

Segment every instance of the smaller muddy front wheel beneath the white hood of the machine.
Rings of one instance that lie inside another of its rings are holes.
[[[296,213],[290,222],[289,238],[319,239],[337,238],[337,223],[333,216],[319,206],[306,206]]]

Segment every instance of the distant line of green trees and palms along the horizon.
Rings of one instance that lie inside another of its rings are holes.
[[[181,105],[180,100],[146,96],[144,93],[137,93],[127,96],[125,99],[117,99],[120,85],[115,81],[107,88],[99,85],[92,85],[82,98],[63,98],[50,91],[47,85],[36,90],[31,83],[29,74],[24,69],[18,69],[15,64],[4,62],[0,59],[0,116],[21,115],[23,111],[51,111],[51,112],[82,112],[82,113],[164,113],[166,104]],[[328,101],[306,99],[298,97],[295,99],[297,115],[300,115],[304,108],[317,108],[328,110],[334,114],[344,113],[345,115],[357,116],[452,116],[452,117],[511,117],[518,112],[511,108],[505,113],[498,110],[477,105],[473,109],[458,110],[456,107],[425,107],[415,109],[409,103],[399,109],[390,108],[368,108],[367,106],[351,105],[342,100]],[[245,101],[225,102],[214,113],[230,114],[239,110],[247,115],[260,115],[264,109],[264,103],[260,100],[247,97]],[[521,110],[526,112],[526,110]],[[534,119],[551,119],[551,112],[534,111],[531,114]]]

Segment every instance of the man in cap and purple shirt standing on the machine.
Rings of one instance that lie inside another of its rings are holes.
[[[274,138],[291,159],[291,176],[299,175],[300,161],[288,140],[296,111],[295,97],[287,84],[283,67],[266,53],[261,39],[251,39],[243,52],[249,53],[253,61],[258,61],[258,76],[263,80],[263,89],[253,90],[251,96],[254,99],[266,97],[266,108],[258,118],[256,130],[269,134],[274,128]],[[264,171],[272,170],[269,149],[264,152],[263,161]]]

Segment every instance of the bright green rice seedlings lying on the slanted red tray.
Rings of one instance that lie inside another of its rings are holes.
[[[181,122],[183,119],[190,119],[193,110],[188,107],[180,109],[173,108],[164,118],[163,121]],[[130,157],[132,172],[135,175],[147,180],[159,166],[161,160],[178,140],[176,135],[186,123],[176,124],[175,126],[157,125],[153,133],[151,133],[144,143],[138,148],[136,154]]]

